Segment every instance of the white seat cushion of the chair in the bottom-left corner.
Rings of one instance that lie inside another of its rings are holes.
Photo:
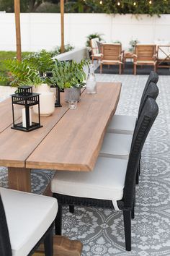
[[[58,202],[12,189],[0,188],[13,256],[26,256],[53,223]]]

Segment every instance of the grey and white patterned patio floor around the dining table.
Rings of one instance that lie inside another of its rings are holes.
[[[117,114],[136,115],[148,75],[96,74],[97,81],[122,82]],[[80,239],[82,256],[170,255],[170,76],[159,76],[158,118],[146,140],[137,187],[132,251],[125,251],[122,213],[95,208],[63,210],[63,234]],[[7,93],[11,93],[7,91]],[[108,92],[109,93],[109,92]],[[1,94],[0,98],[5,98]],[[0,170],[0,186],[7,187],[6,168]],[[32,171],[32,190],[41,193],[53,171]]]

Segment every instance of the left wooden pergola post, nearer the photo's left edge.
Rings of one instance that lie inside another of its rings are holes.
[[[20,0],[14,0],[16,42],[17,42],[17,59],[21,61],[21,33],[20,33]]]

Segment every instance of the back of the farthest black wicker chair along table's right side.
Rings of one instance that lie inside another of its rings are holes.
[[[143,90],[143,95],[140,99],[140,104],[139,104],[138,116],[139,116],[140,112],[142,111],[143,104],[145,103],[145,98],[146,98],[146,93],[147,93],[147,90],[148,90],[148,86],[150,85],[151,82],[154,82],[155,84],[157,84],[157,82],[158,82],[158,74],[154,71],[151,71],[151,73],[149,74],[148,80],[146,82],[146,86]]]

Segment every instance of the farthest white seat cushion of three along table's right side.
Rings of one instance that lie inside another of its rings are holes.
[[[133,135],[135,122],[135,116],[114,115],[111,121],[109,121],[107,132]]]

